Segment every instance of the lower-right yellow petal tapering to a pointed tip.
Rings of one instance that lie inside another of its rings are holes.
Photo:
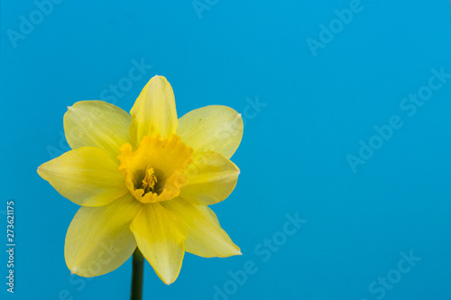
[[[241,255],[241,251],[221,228],[216,214],[207,206],[192,205],[177,198],[162,202],[170,212],[176,214],[187,230],[185,250],[204,258],[226,258]]]

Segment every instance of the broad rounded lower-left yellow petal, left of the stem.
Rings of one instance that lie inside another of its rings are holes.
[[[136,249],[130,223],[141,206],[128,194],[110,205],[80,207],[70,223],[64,249],[71,273],[99,276],[129,259]]]

